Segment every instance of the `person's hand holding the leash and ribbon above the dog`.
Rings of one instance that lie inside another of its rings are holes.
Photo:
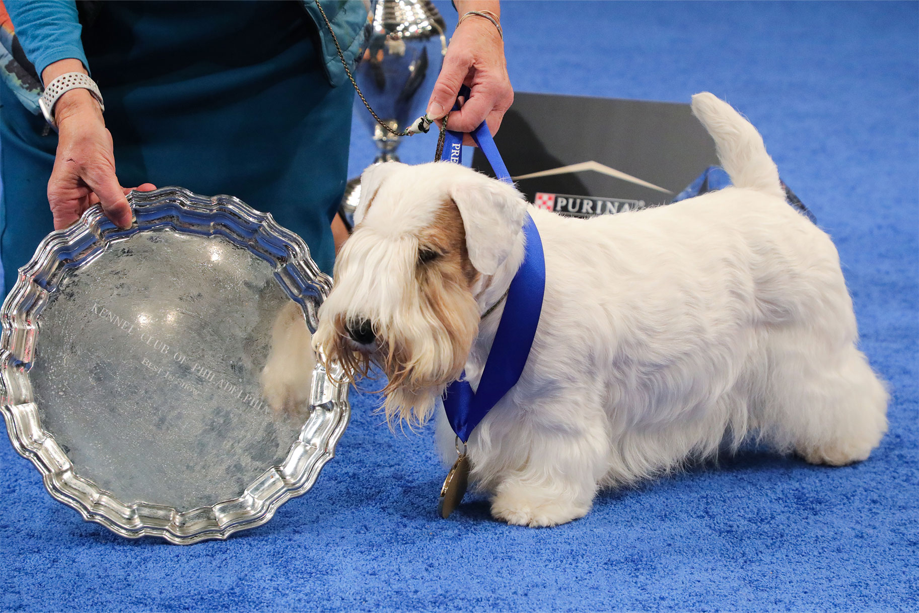
[[[460,17],[467,11],[486,8],[479,6],[484,3],[474,7],[468,6],[471,3],[456,4]],[[489,3],[487,9],[500,15],[497,4]],[[483,17],[467,17],[454,31],[427,105],[427,116],[442,119],[453,108],[461,85],[469,86],[471,95],[458,111],[450,113],[448,128],[470,132],[478,128],[482,120],[487,120],[488,129],[494,135],[514,102],[514,89],[507,76],[504,41],[494,24]],[[468,135],[463,142],[473,144]]]

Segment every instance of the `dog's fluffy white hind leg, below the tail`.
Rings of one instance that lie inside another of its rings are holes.
[[[813,464],[868,459],[887,431],[888,394],[864,354],[793,330],[774,332],[768,351],[766,437]]]

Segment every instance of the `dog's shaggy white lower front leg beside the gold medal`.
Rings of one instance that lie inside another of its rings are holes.
[[[501,475],[492,516],[540,528],[584,517],[593,505],[608,443],[599,432],[543,432],[531,438],[525,464]],[[598,474],[599,472],[599,474]]]

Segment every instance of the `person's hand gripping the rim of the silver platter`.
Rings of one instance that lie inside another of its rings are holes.
[[[76,62],[83,68],[78,61],[62,62]],[[71,72],[67,68],[73,70],[72,65],[55,65],[62,62],[45,69],[42,74],[45,83],[50,83],[57,74]],[[125,196],[130,188],[121,187],[115,175],[112,137],[106,130],[96,99],[85,89],[72,89],[58,99],[54,118],[58,125],[58,147],[48,181],[48,203],[54,216],[54,229],[66,228],[96,203],[102,205],[109,220],[119,227],[129,228],[131,212]],[[140,191],[155,188],[150,183],[137,187]]]

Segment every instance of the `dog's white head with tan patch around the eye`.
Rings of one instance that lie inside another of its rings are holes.
[[[521,240],[526,209],[514,187],[448,162],[361,176],[313,342],[352,379],[380,365],[391,422],[424,423],[459,378],[479,329],[475,296]]]

